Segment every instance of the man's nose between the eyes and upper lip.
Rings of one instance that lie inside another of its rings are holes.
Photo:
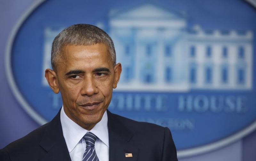
[[[92,96],[97,94],[99,89],[97,87],[97,83],[94,80],[93,76],[86,76],[83,82],[83,87],[81,90],[81,95]]]

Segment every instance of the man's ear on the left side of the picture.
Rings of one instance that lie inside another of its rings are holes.
[[[57,83],[57,74],[54,70],[46,69],[44,77],[47,79],[49,86],[52,88],[54,93],[59,93],[60,89]]]

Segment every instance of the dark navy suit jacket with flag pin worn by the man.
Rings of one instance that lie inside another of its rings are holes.
[[[177,161],[168,128],[108,113],[109,161]],[[125,157],[132,153],[132,157]],[[60,112],[53,120],[0,150],[0,161],[71,161]]]

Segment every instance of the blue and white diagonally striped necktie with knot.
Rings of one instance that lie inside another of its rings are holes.
[[[84,151],[83,161],[99,161],[97,157],[94,144],[97,139],[97,136],[91,132],[87,132],[84,135],[84,140],[86,142],[86,149]]]

